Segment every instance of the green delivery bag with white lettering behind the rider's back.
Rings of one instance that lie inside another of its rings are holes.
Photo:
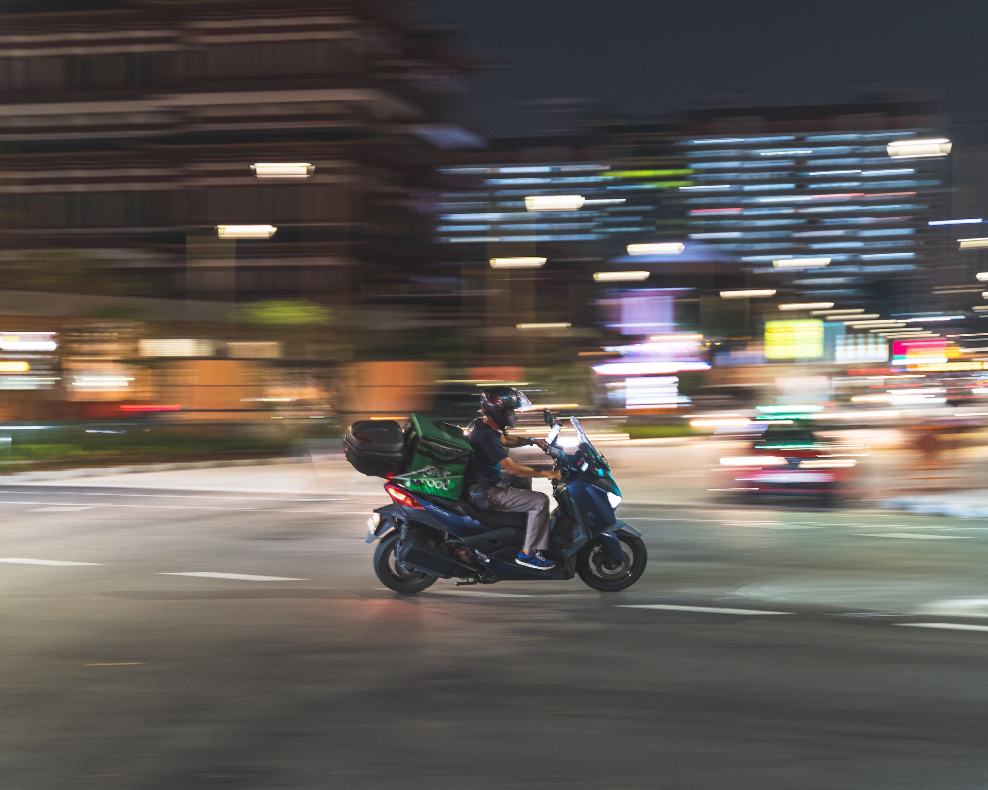
[[[456,426],[413,414],[405,424],[408,466],[396,478],[409,491],[458,500],[470,454],[470,443]]]

